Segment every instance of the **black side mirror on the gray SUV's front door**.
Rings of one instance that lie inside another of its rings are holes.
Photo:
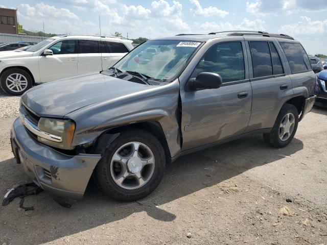
[[[186,91],[219,88],[222,78],[214,72],[200,72],[196,78],[191,78],[186,84]]]

